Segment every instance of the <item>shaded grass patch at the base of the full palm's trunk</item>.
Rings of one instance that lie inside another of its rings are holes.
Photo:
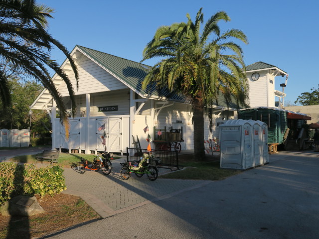
[[[183,170],[161,175],[160,178],[195,179],[195,180],[223,180],[240,173],[240,170],[220,168],[219,161],[187,161],[180,162]]]

